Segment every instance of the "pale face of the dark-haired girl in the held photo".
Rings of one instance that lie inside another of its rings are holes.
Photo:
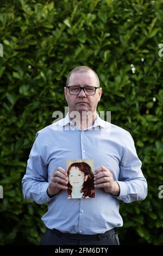
[[[69,182],[73,188],[79,188],[82,187],[84,184],[84,181],[86,181],[87,175],[79,170],[78,167],[73,166],[69,173]]]

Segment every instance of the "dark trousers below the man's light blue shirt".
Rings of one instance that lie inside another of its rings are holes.
[[[67,234],[47,229],[40,245],[120,245],[120,242],[115,228],[97,235]]]

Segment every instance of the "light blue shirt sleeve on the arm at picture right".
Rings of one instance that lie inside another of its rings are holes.
[[[136,154],[134,141],[129,132],[127,132],[122,152],[120,176],[117,181],[120,194],[117,199],[125,203],[143,200],[147,197],[147,180],[143,176],[141,161]]]

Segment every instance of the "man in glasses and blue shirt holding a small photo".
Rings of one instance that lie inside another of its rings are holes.
[[[102,88],[91,68],[73,69],[64,92],[69,113],[36,133],[22,180],[24,198],[48,202],[41,245],[118,245],[120,200],[147,196],[133,138],[96,114]],[[95,198],[67,199],[66,159],[94,160]]]

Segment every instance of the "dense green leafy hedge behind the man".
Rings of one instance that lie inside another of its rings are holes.
[[[37,244],[45,230],[46,205],[23,199],[21,179],[35,133],[64,111],[66,77],[78,65],[97,71],[98,111],[111,111],[111,123],[130,131],[148,181],[145,201],[121,203],[121,243],[163,244],[161,2],[1,0],[2,245]]]

